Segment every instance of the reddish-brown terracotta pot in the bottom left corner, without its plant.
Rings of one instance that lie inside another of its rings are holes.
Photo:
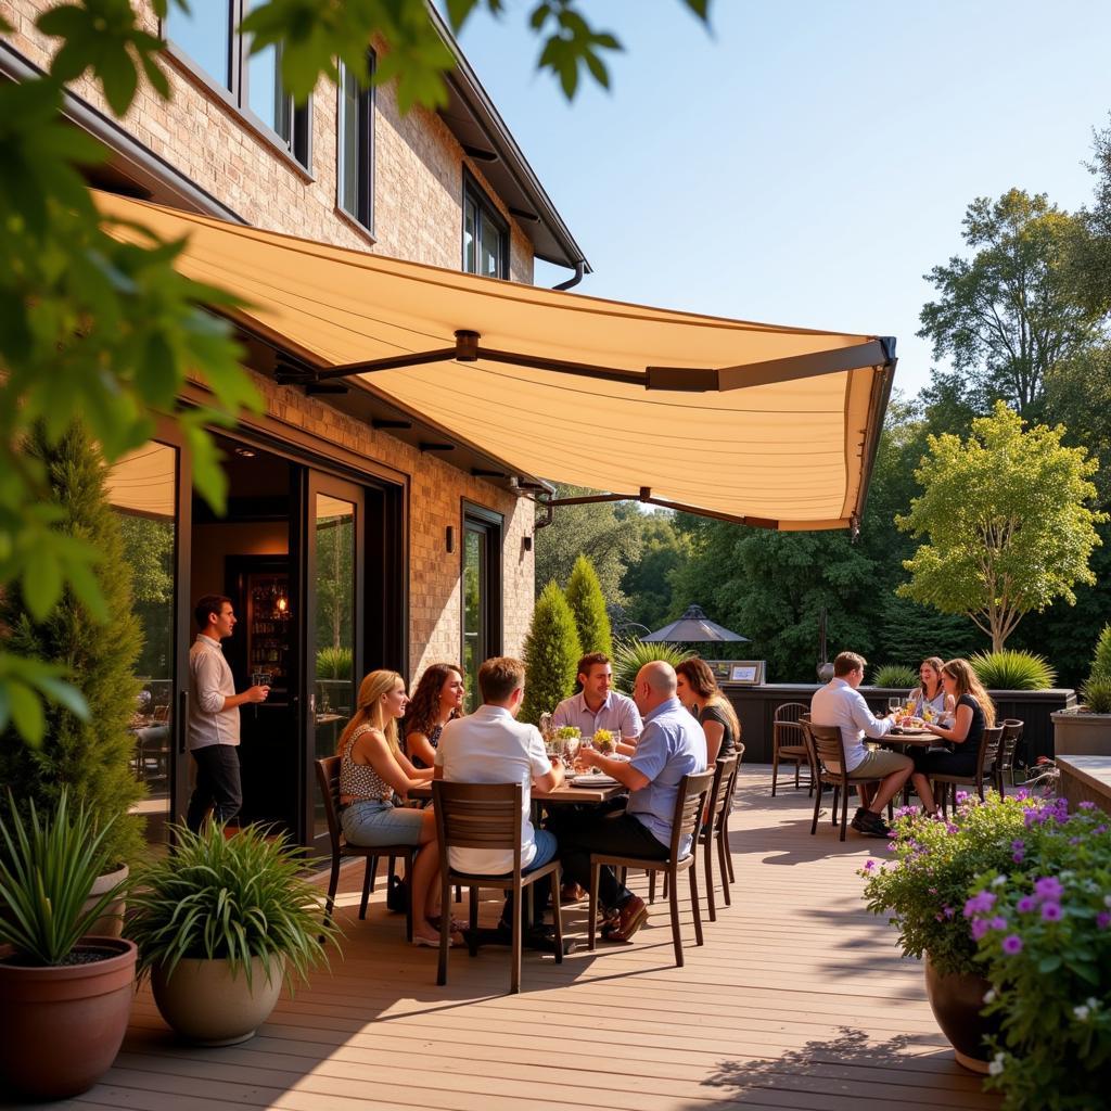
[[[90,1089],[120,1051],[134,993],[134,942],[83,938],[79,951],[104,950],[88,964],[28,968],[0,950],[0,1073],[36,1099]]]

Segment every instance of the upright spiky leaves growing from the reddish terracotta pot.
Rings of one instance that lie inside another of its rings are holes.
[[[8,791],[0,818],[0,944],[22,964],[64,964],[127,881],[99,895],[84,910],[93,883],[111,865],[106,838],[111,820],[98,825],[84,805],[58,795],[53,812],[40,814],[34,801],[17,805]]]

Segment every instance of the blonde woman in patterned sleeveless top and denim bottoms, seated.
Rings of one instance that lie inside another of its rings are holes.
[[[396,671],[372,671],[359,687],[354,717],[340,737],[340,824],[351,844],[420,845],[413,863],[413,944],[439,945],[429,922],[437,912],[440,849],[431,807],[411,810],[397,805],[394,793],[407,792],[432,779],[432,769],[418,771],[398,745],[398,719],[406,712],[404,680]]]

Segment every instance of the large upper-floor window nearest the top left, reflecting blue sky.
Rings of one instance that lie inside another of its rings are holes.
[[[190,0],[189,11],[171,4],[162,33],[179,57],[218,88],[258,130],[309,166],[309,104],[293,106],[281,83],[281,53],[267,47],[250,53],[239,23],[260,0]]]

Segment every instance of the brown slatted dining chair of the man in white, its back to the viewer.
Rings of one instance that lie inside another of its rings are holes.
[[[478,889],[497,887],[513,892],[513,943],[509,964],[509,990],[521,990],[521,947],[524,889],[548,879],[551,883],[552,922],[556,927],[556,963],[563,963],[563,920],[559,903],[560,861],[557,857],[531,872],[521,870],[520,783],[448,783],[432,781],[432,805],[436,808],[436,834],[440,843],[441,905],[448,907],[453,883],[470,888],[470,929],[478,927]],[[451,867],[452,849],[486,849],[512,851],[513,867],[508,872],[487,874],[462,872]],[[448,949],[451,938],[451,915],[440,915],[440,963],[436,982],[448,982]],[[471,950],[473,955],[474,950]]]

